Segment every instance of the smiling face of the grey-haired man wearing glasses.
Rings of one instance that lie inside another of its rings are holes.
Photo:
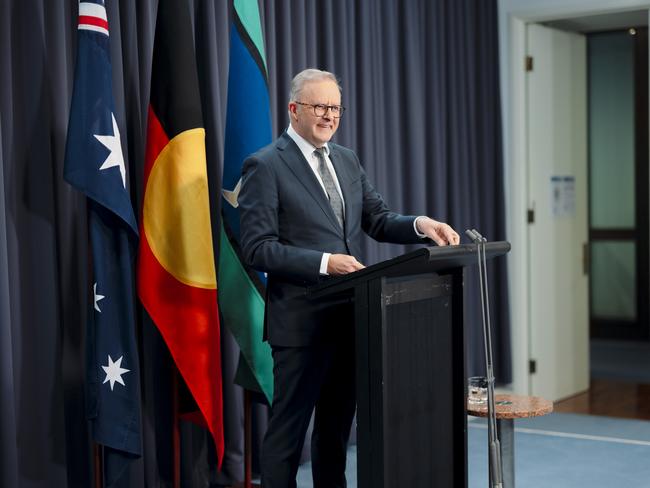
[[[322,147],[338,129],[339,119],[332,116],[331,110],[326,111],[322,117],[317,117],[313,107],[295,102],[310,105],[341,105],[341,93],[336,83],[332,80],[305,83],[298,100],[289,102],[289,114],[294,130],[315,147]]]

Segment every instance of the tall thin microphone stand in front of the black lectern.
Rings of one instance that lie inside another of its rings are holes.
[[[488,458],[490,465],[490,487],[503,488],[503,464],[501,444],[497,434],[497,412],[494,403],[494,370],[492,368],[492,333],[490,324],[490,303],[488,297],[487,262],[485,243],[487,239],[476,229],[466,230],[465,234],[476,244],[479,282],[481,289],[481,316],[483,319],[483,346],[485,348],[485,370],[487,372],[488,400]]]

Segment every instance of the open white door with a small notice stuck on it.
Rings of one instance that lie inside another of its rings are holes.
[[[585,36],[527,27],[530,392],[589,387]]]

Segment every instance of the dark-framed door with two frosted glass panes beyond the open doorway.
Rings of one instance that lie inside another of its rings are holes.
[[[590,337],[647,341],[648,29],[587,34]]]

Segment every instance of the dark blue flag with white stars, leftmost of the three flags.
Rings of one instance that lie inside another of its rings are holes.
[[[102,0],[83,1],[64,176],[88,203],[93,298],[86,335],[87,413],[94,440],[104,446],[106,486],[142,449],[133,277],[138,227],[126,173],[106,9]]]

